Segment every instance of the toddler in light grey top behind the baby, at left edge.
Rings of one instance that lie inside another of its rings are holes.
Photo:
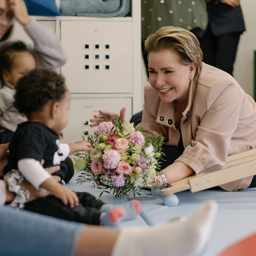
[[[7,42],[0,46],[0,143],[8,143],[17,125],[27,118],[13,106],[15,86],[28,71],[35,68],[35,60],[21,41]]]

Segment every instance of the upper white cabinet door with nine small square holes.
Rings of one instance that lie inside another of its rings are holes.
[[[132,22],[61,21],[60,35],[71,92],[132,93]]]

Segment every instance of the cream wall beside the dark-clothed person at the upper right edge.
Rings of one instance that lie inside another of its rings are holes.
[[[240,3],[246,31],[240,37],[233,74],[245,92],[253,97],[253,56],[254,50],[256,50],[256,1],[240,0]]]

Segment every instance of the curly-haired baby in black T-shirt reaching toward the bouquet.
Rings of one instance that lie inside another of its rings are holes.
[[[68,123],[69,104],[70,92],[65,79],[53,70],[34,69],[18,81],[14,107],[25,114],[28,121],[19,124],[13,134],[8,164],[3,170],[9,190],[16,193],[11,206],[96,225],[115,225],[135,218],[140,213],[137,200],[105,204],[89,193],[71,191],[44,169],[59,165],[60,170],[53,175],[63,179],[67,172],[65,158],[78,151],[91,150],[91,144],[86,141],[71,144],[59,141],[58,134]],[[29,191],[19,186],[23,177],[35,188],[45,188],[52,195],[27,202]]]

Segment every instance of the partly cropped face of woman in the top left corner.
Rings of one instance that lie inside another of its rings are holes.
[[[0,0],[0,39],[12,25],[14,14],[8,6],[7,0]]]

